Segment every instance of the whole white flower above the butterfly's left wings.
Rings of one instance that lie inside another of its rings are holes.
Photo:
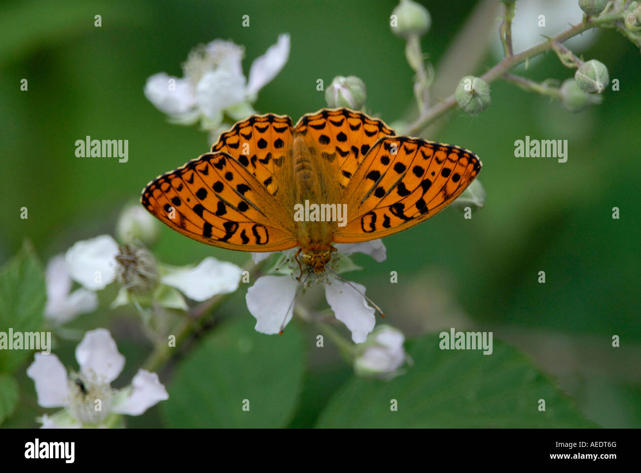
[[[289,35],[279,35],[278,42],[254,60],[246,79],[244,48],[216,39],[189,53],[183,78],[161,72],[147,79],[145,95],[174,122],[192,124],[200,119],[204,129],[219,129],[224,113],[238,120],[254,113],[249,103],[283,69],[289,49]]]

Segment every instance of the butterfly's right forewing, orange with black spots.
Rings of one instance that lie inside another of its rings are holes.
[[[347,225],[336,243],[386,237],[443,210],[478,176],[481,160],[458,146],[421,138],[381,138],[358,164],[341,202]]]

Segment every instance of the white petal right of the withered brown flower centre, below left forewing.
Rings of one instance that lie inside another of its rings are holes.
[[[216,294],[229,294],[238,289],[242,269],[213,256],[205,258],[195,268],[171,269],[162,282],[175,287],[194,301],[206,301]]]

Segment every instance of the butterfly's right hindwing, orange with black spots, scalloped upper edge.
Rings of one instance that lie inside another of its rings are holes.
[[[358,162],[379,138],[395,135],[381,120],[347,108],[303,115],[294,132],[305,138],[320,159],[332,163],[341,188],[347,187]]]

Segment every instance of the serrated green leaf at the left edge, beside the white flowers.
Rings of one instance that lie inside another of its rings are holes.
[[[0,332],[35,332],[44,320],[47,288],[38,258],[30,244],[0,272]],[[13,340],[8,340],[11,343]],[[0,350],[0,372],[12,372],[31,351]]]

